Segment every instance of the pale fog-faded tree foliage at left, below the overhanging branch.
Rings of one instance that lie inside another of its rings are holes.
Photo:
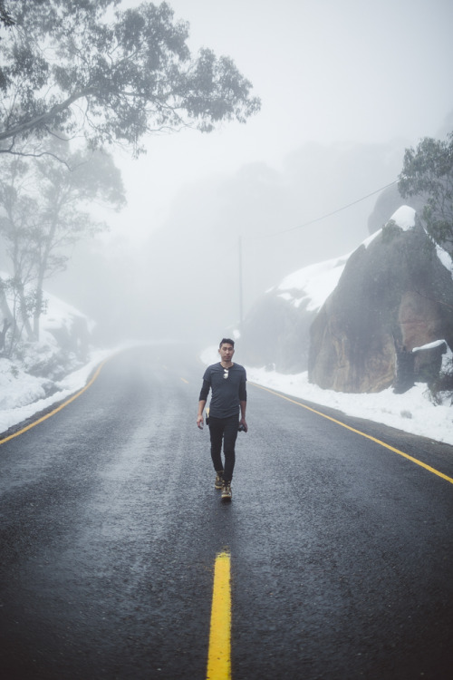
[[[44,280],[66,267],[72,245],[106,228],[92,217],[92,203],[120,209],[125,201],[120,172],[108,154],[53,151],[66,156],[72,170],[52,155],[14,155],[0,165],[0,238],[12,271],[0,306],[13,330],[20,320],[29,340],[39,337]],[[13,299],[9,313],[6,292]]]

